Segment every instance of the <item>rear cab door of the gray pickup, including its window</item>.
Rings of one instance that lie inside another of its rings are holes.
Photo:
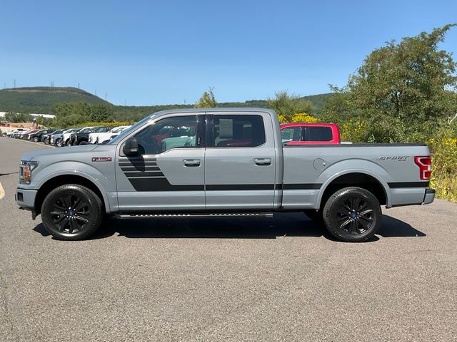
[[[268,113],[207,114],[206,209],[272,209],[277,160]]]

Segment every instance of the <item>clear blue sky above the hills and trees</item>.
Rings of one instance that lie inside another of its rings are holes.
[[[117,105],[328,93],[374,48],[457,21],[457,1],[1,1],[0,88]],[[457,58],[457,27],[441,48]]]

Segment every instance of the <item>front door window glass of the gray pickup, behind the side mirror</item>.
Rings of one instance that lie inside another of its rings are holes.
[[[159,120],[136,133],[141,155],[156,155],[172,148],[196,146],[197,117],[179,116]]]

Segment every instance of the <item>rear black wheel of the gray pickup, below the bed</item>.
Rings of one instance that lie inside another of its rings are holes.
[[[363,242],[381,226],[381,206],[373,194],[360,187],[335,192],[323,207],[323,222],[333,237],[344,242]]]

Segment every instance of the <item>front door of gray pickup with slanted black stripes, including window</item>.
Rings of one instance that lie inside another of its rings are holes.
[[[131,137],[139,155],[124,155],[124,140],[116,160],[121,212],[205,209],[204,115],[167,115]]]

